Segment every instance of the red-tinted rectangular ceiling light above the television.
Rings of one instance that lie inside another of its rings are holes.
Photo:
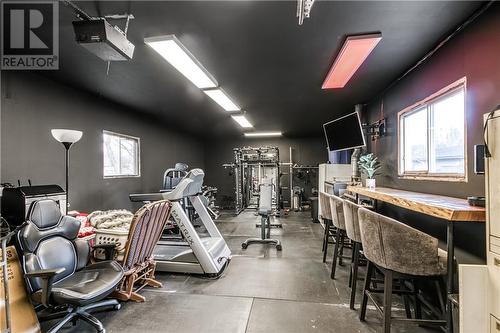
[[[380,33],[347,37],[321,89],[344,88],[381,39]]]

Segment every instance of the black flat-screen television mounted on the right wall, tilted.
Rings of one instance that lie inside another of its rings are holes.
[[[358,112],[323,125],[329,151],[342,151],[366,146]]]

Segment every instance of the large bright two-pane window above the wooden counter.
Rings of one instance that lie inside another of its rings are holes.
[[[399,113],[399,174],[466,180],[465,79]]]

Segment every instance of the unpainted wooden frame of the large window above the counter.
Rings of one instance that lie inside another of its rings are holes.
[[[429,117],[429,107],[439,100],[446,98],[448,95],[460,89],[464,90],[464,173],[435,173],[429,172],[430,157],[431,157],[431,117]],[[403,161],[404,149],[404,126],[402,121],[404,118],[418,110],[425,108],[427,112],[427,170],[426,171],[405,171]],[[434,180],[434,181],[449,181],[449,182],[467,182],[468,181],[468,158],[467,158],[467,78],[463,77],[443,89],[433,93],[432,95],[418,101],[415,104],[398,112],[398,178],[414,179],[414,180]]]

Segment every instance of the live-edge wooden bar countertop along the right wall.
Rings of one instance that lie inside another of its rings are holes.
[[[471,206],[465,199],[409,192],[387,187],[368,189],[361,186],[348,186],[347,190],[352,193],[448,221],[486,221],[486,210],[484,207]]]

